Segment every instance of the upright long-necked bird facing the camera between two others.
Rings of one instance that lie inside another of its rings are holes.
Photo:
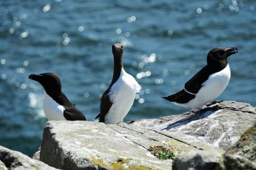
[[[133,76],[123,69],[123,45],[112,45],[112,53],[114,56],[112,82],[104,94],[100,96],[100,113],[95,117],[95,119],[100,117],[99,122],[106,124],[123,122],[123,118],[133,105],[136,92],[141,90],[141,86]]]

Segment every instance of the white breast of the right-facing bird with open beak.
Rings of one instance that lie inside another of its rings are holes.
[[[230,79],[230,67],[227,65],[223,70],[211,74],[197,92],[195,98],[186,103],[185,107],[193,109],[202,108],[205,104],[215,100],[227,87]]]

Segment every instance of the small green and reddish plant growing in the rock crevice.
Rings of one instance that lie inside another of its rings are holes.
[[[148,148],[148,151],[150,151],[153,155],[156,156],[156,158],[160,159],[160,160],[167,160],[167,159],[174,159],[175,155],[174,155],[174,148],[173,149],[168,149],[168,148],[164,148],[164,146],[150,146]]]

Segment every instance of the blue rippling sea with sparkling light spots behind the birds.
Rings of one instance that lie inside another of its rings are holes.
[[[46,123],[44,90],[32,73],[55,72],[87,120],[113,76],[111,45],[141,84],[125,121],[182,114],[160,96],[182,89],[213,47],[233,47],[231,78],[218,100],[256,106],[255,0],[0,1],[0,145],[29,156]]]

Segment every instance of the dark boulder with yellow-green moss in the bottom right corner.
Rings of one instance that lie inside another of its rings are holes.
[[[223,164],[227,170],[256,170],[256,124],[228,149]]]

